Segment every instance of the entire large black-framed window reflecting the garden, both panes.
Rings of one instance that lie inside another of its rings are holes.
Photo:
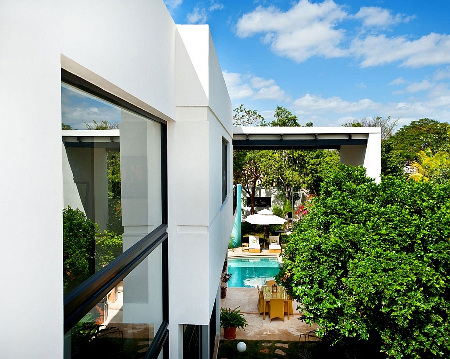
[[[156,357],[168,335],[166,124],[63,81],[64,357]]]

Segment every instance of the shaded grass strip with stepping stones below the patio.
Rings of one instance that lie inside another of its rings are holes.
[[[237,351],[237,343],[243,341],[247,350]],[[264,346],[263,343],[270,345]],[[276,346],[276,343],[288,344],[287,348]],[[276,354],[282,350],[286,355]],[[263,350],[263,351],[262,351]],[[222,358],[284,358],[284,359],[384,359],[386,356],[365,342],[352,343],[345,346],[329,346],[326,342],[272,341],[272,340],[220,340],[218,359]]]

